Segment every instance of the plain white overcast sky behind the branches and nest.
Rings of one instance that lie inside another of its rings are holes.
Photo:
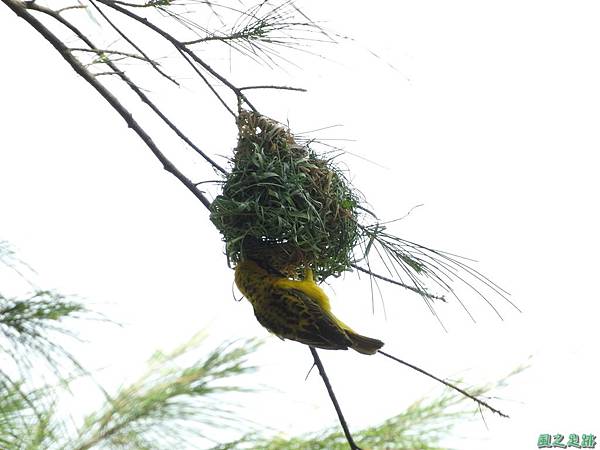
[[[511,419],[486,414],[486,428],[474,417],[460,430],[467,439],[448,441],[462,450],[534,449],[540,433],[600,435],[600,5],[306,3],[313,19],[355,41],[327,49],[329,61],[295,56],[301,68],[283,71],[238,59],[236,79],[247,71],[253,82],[308,88],[255,99],[296,130],[342,124],[319,136],[353,139],[342,144],[377,163],[343,157],[381,218],[424,204],[392,231],[477,259],[523,313],[498,300],[501,321],[467,294],[477,323],[456,303],[440,305],[446,333],[418,296],[392,287],[384,288],[387,319],[379,302],[372,315],[369,285],[353,275],[328,287],[334,310],[439,376],[476,385],[530,362],[493,400]],[[156,348],[201,328],[215,343],[267,337],[250,305],[232,297],[232,271],[202,205],[4,6],[0,33],[0,238],[44,286],[78,294],[126,324],[81,330],[85,363],[106,368],[105,381],[116,384]],[[199,87],[170,95],[166,107],[202,148],[230,154],[235,129],[211,97]],[[180,144],[172,151],[184,153]],[[188,171],[209,173],[189,159]],[[322,355],[354,428],[440,392],[379,356]],[[289,434],[335,426],[316,373],[304,380],[306,348],[269,337],[257,360],[256,384],[280,392],[249,402],[255,420]]]

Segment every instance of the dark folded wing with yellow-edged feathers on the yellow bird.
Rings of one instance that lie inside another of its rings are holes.
[[[273,288],[268,305],[255,314],[279,337],[313,347],[345,350],[352,345],[346,332],[318,302],[296,289]]]

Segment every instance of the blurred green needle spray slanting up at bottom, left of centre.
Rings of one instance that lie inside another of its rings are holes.
[[[256,369],[247,359],[258,342],[224,344],[191,365],[179,364],[200,342],[198,336],[172,352],[157,352],[145,374],[86,417],[71,448],[193,448],[194,440],[210,440],[219,428],[243,428],[225,394],[248,391],[230,379]]]

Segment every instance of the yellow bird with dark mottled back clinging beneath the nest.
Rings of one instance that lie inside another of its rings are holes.
[[[282,339],[328,350],[352,348],[365,355],[383,346],[333,315],[327,294],[315,283],[310,269],[304,280],[291,280],[245,259],[235,267],[235,284],[252,304],[258,322]]]

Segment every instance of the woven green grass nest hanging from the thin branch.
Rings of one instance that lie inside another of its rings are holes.
[[[246,255],[291,277],[310,266],[321,280],[347,270],[360,199],[342,170],[268,117],[241,111],[238,130],[210,216],[229,262]]]

